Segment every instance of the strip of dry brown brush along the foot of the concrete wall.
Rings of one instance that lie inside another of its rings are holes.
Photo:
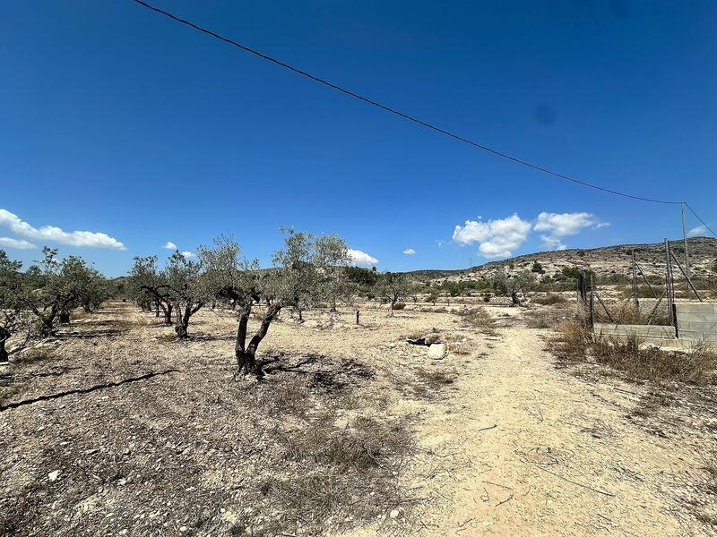
[[[714,384],[717,353],[697,345],[689,353],[666,352],[641,345],[639,337],[593,337],[587,323],[568,321],[558,327],[552,350],[566,361],[591,361],[620,371],[629,380]]]

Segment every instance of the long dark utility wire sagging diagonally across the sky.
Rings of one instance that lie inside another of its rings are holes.
[[[414,117],[414,116],[408,115],[408,114],[404,114],[403,112],[396,110],[395,108],[387,107],[386,105],[382,105],[381,103],[379,103],[371,98],[364,97],[354,91],[342,88],[341,86],[334,84],[333,82],[326,81],[323,78],[315,76],[309,72],[302,71],[301,69],[298,69],[297,67],[294,67],[293,65],[286,64],[286,63],[282,62],[281,60],[277,60],[276,58],[273,58],[270,55],[265,55],[265,54],[255,50],[254,48],[246,47],[246,45],[242,45],[242,44],[238,43],[237,41],[233,41],[232,39],[225,38],[225,37],[221,36],[220,34],[213,32],[212,30],[206,30],[206,29],[202,28],[201,26],[197,26],[196,24],[194,24],[194,22],[190,22],[190,21],[181,19],[181,18],[177,17],[176,15],[173,15],[172,13],[168,13],[164,10],[161,10],[158,7],[154,7],[151,4],[147,4],[146,2],[143,2],[143,0],[133,0],[133,2],[135,2],[136,4],[143,5],[143,7],[146,7],[147,9],[150,9],[153,12],[160,13],[160,14],[168,17],[169,19],[172,19],[173,21],[177,21],[177,22],[180,22],[181,24],[185,24],[186,26],[189,26],[190,28],[193,28],[194,30],[201,31],[202,33],[205,33],[205,34],[211,36],[212,38],[219,39],[220,41],[229,43],[229,45],[232,45],[233,47],[238,47],[241,50],[244,50],[245,52],[259,56],[263,60],[271,62],[272,64],[279,65],[280,67],[283,67],[284,69],[288,69],[291,72],[295,72],[303,77],[306,77],[307,79],[310,79],[312,81],[323,84],[324,86],[328,86],[329,88],[331,88],[333,90],[340,91],[341,93],[348,95],[352,98],[357,98],[358,100],[361,100],[373,107],[381,108],[382,110],[389,112],[393,115],[398,115],[399,117],[402,117],[403,119],[407,119],[408,121],[413,122],[415,124],[419,124],[423,127],[426,127],[427,129],[444,134],[445,136],[453,138],[454,140],[462,141],[463,143],[471,145],[475,148],[487,151],[488,153],[496,155],[497,157],[505,158],[507,160],[512,160],[513,162],[515,162],[517,164],[530,167],[534,170],[538,170],[545,174],[553,175],[554,177],[558,177],[559,179],[564,179],[565,181],[570,181],[571,183],[581,184],[583,186],[587,186],[587,187],[595,189],[595,190],[599,190],[602,192],[608,192],[610,194],[615,194],[617,196],[622,196],[624,198],[630,198],[632,200],[650,201],[651,203],[663,203],[666,205],[678,205],[681,203],[681,201],[655,200],[652,198],[645,198],[643,196],[635,196],[633,194],[628,194],[626,192],[619,192],[619,191],[612,190],[612,189],[609,189],[609,188],[606,188],[606,187],[603,187],[603,186],[600,186],[597,184],[588,183],[588,182],[582,181],[580,179],[575,179],[574,177],[571,177],[569,175],[560,174],[560,173],[555,172],[547,167],[533,164],[532,162],[529,162],[527,160],[523,160],[523,158],[513,157],[512,155],[504,153],[503,151],[499,151],[497,149],[491,149],[488,146],[482,145],[476,141],[471,141],[468,138],[464,138],[464,137],[460,136],[459,134],[455,134],[454,132],[446,131],[445,129],[437,127],[434,124],[429,124],[428,122],[423,121],[417,117]],[[692,209],[690,209],[690,210],[692,210]]]

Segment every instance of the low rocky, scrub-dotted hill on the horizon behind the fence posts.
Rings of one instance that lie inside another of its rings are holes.
[[[682,241],[670,241],[670,249],[682,262],[685,258]],[[410,275],[420,280],[443,279],[477,279],[490,277],[497,271],[518,272],[530,270],[533,262],[542,266],[545,274],[559,273],[565,267],[590,268],[598,276],[610,274],[631,274],[630,260],[635,251],[635,259],[643,268],[645,274],[664,275],[665,272],[665,245],[664,243],[651,244],[618,244],[615,246],[602,246],[587,250],[570,249],[556,251],[539,251],[520,255],[500,261],[490,261],[483,265],[458,270],[414,270]],[[695,277],[706,277],[717,274],[717,238],[691,237],[687,239],[690,269]],[[676,267],[675,270],[678,270]]]

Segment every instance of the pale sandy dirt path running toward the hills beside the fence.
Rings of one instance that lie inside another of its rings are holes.
[[[458,535],[707,534],[685,504],[700,439],[636,426],[627,414],[637,397],[556,371],[536,330],[506,328],[488,345],[463,371],[448,412],[428,413],[419,429],[421,446],[444,461],[419,482],[436,503],[420,527]]]

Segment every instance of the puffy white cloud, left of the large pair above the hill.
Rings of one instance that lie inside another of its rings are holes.
[[[455,226],[454,241],[461,245],[479,243],[479,252],[488,258],[510,257],[531,233],[531,223],[518,215],[488,222],[466,220]]]

